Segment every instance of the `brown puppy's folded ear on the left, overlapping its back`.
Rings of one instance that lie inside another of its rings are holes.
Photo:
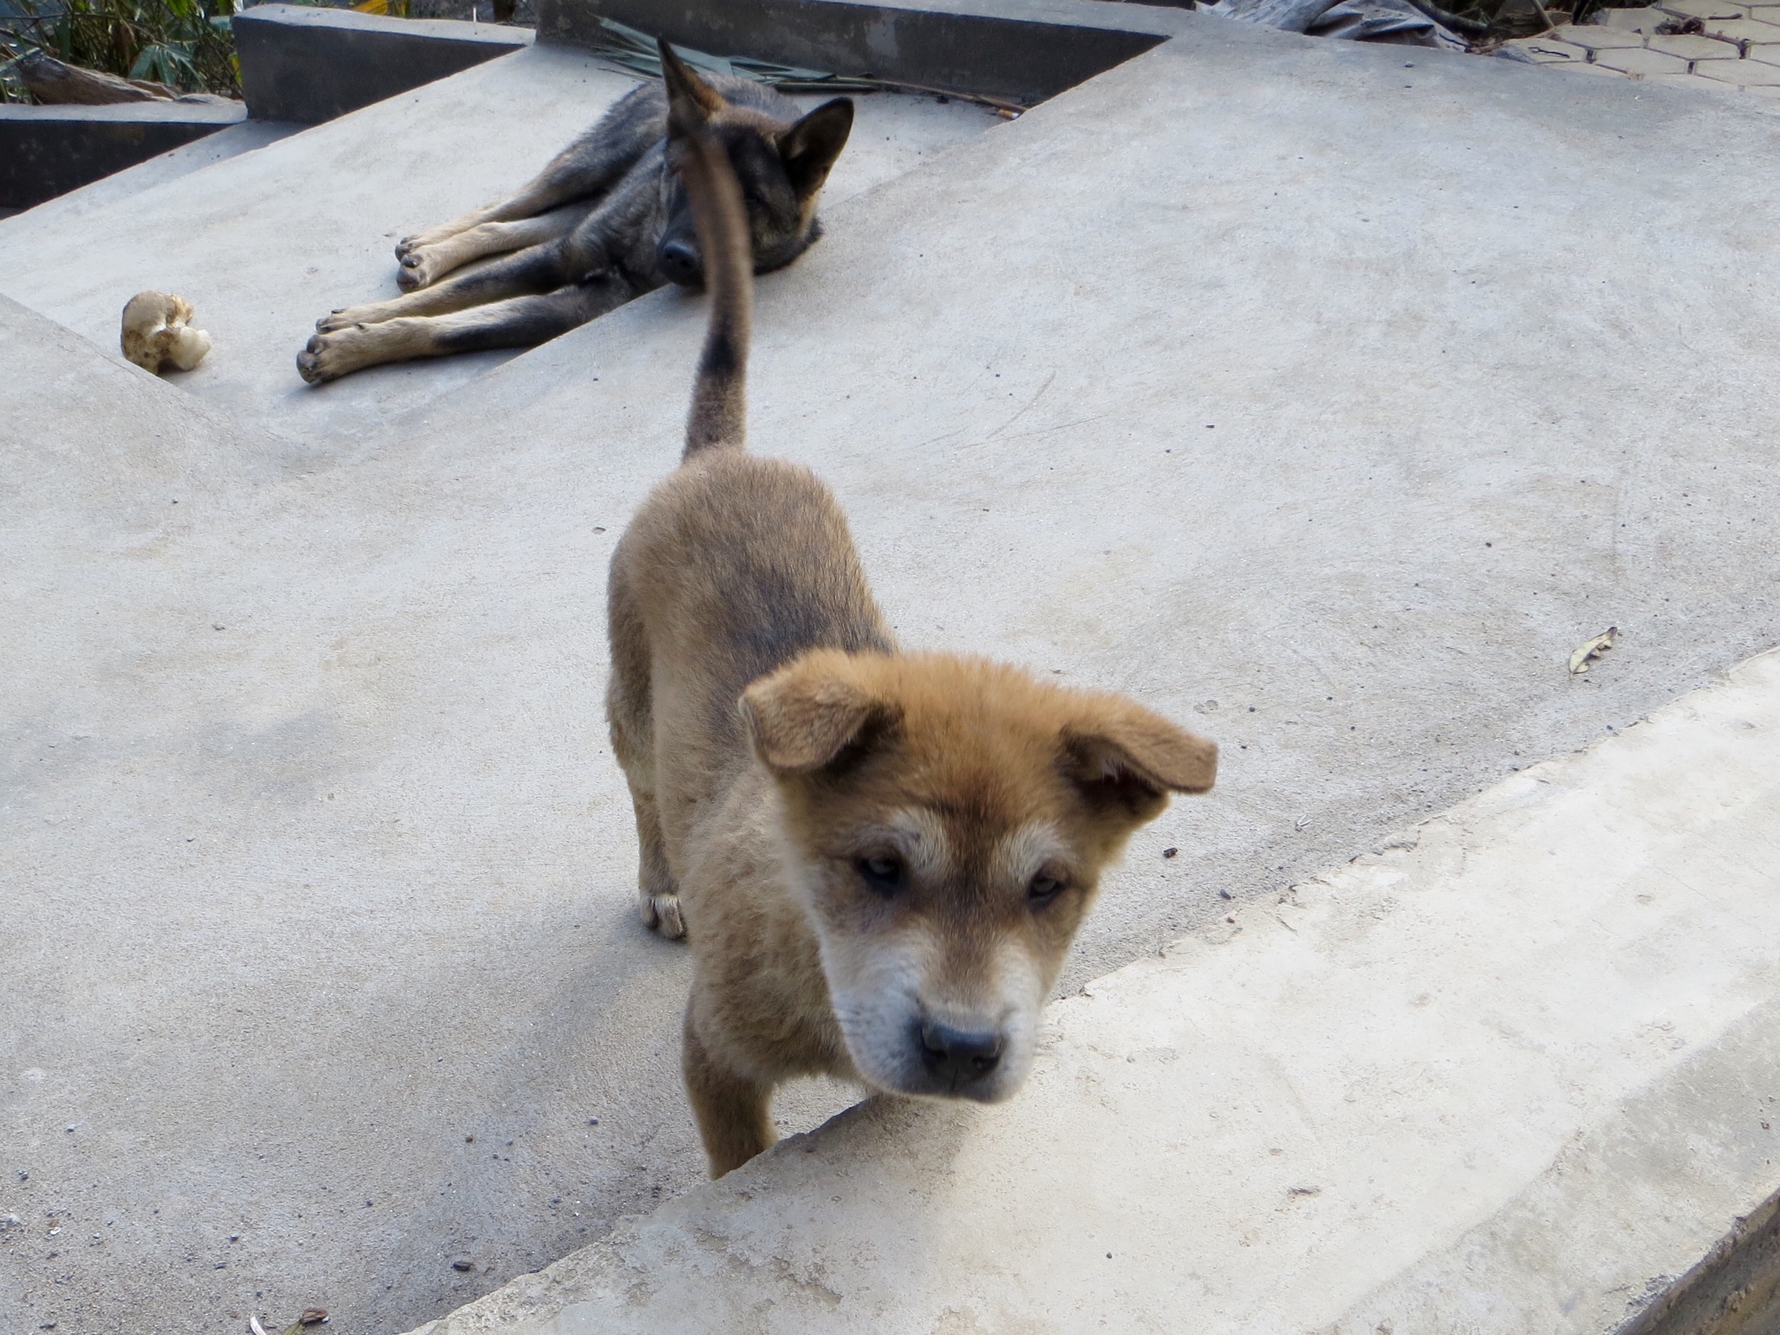
[[[822,769],[895,714],[853,680],[838,653],[813,653],[760,678],[737,708],[755,755],[780,774]]]

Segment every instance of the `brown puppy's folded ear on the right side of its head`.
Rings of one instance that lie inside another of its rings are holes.
[[[1169,792],[1210,792],[1218,778],[1216,742],[1118,696],[1063,730],[1063,753],[1091,805],[1121,806],[1137,822],[1159,815]]]

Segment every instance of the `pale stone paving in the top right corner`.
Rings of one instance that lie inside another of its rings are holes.
[[[1504,50],[1590,75],[1780,98],[1780,2],[1671,0],[1609,9],[1598,23],[1565,23]]]

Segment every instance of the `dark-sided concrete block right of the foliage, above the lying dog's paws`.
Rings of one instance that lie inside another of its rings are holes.
[[[530,46],[527,28],[255,5],[235,16],[247,110],[317,125]]]

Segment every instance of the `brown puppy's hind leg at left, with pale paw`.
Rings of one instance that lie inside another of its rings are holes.
[[[660,808],[655,805],[655,721],[650,707],[650,648],[623,575],[625,554],[612,561],[607,593],[612,675],[605,685],[605,717],[612,753],[625,771],[630,805],[637,812],[637,911],[643,926],[669,940],[685,936],[680,886],[668,865]]]

